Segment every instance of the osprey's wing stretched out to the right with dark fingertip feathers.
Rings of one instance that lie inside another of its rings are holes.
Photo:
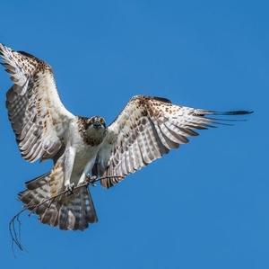
[[[186,144],[187,137],[198,135],[195,130],[215,127],[214,124],[219,123],[207,116],[245,113],[248,112],[206,111],[178,106],[165,98],[134,96],[108,127],[93,174],[112,176],[101,180],[102,185],[111,187],[126,175],[162,157],[169,149]]]

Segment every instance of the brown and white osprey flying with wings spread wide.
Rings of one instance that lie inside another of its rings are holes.
[[[179,106],[161,97],[134,96],[108,127],[104,118],[75,116],[57,94],[52,68],[43,60],[0,44],[0,57],[13,86],[6,94],[9,120],[22,157],[52,159],[45,175],[26,183],[19,198],[28,209],[85,183],[87,176],[106,177],[105,187],[197,136],[195,130],[219,123],[210,115],[241,115]],[[120,176],[120,178],[118,177]],[[97,215],[86,186],[33,210],[39,220],[59,229],[86,229]]]

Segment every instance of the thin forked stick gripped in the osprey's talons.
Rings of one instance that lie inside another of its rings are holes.
[[[39,206],[43,205],[44,203],[46,202],[49,202],[48,204],[48,207],[51,205],[51,203],[58,197],[62,196],[62,195],[73,195],[73,192],[82,188],[82,187],[88,187],[89,185],[92,185],[92,186],[95,186],[95,183],[99,182],[100,180],[102,179],[109,179],[109,178],[123,178],[123,176],[117,176],[117,175],[111,175],[111,176],[104,176],[104,177],[100,177],[100,178],[97,178],[96,176],[87,176],[87,179],[85,181],[85,183],[81,184],[81,185],[78,185],[78,186],[75,186],[74,189],[72,191],[70,190],[65,190],[61,193],[57,193],[56,195],[48,198],[48,199],[45,199],[43,200],[42,202],[39,202],[39,204],[36,204],[36,205],[33,205],[33,204],[28,204],[28,205],[25,205],[23,208],[22,208],[22,211],[19,211],[16,215],[13,216],[13,218],[10,220],[9,222],[9,233],[11,235],[11,238],[12,238],[12,249],[14,247],[14,245],[16,245],[21,251],[24,250],[24,247],[22,246],[22,243],[21,243],[21,226],[22,226],[22,222],[20,220],[20,216],[21,214],[24,212],[24,211],[27,211],[29,210],[30,211],[30,214],[34,211],[36,211]],[[29,214],[29,216],[30,216]],[[18,222],[19,224],[19,231],[17,233],[16,231],[16,228],[15,228],[15,221]],[[14,249],[13,249],[13,255],[14,255]],[[14,255],[15,256],[15,255]]]

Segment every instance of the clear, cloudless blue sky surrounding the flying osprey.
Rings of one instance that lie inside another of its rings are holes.
[[[16,194],[51,164],[20,157],[1,68],[1,267],[269,268],[267,1],[4,0],[0,8],[0,41],[48,61],[75,114],[112,121],[134,94],[256,112],[202,131],[108,191],[93,188],[100,221],[90,229],[61,231],[25,215],[27,253],[14,259]]]

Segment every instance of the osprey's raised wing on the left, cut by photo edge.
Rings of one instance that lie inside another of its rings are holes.
[[[1,43],[0,58],[14,83],[6,107],[22,157],[30,162],[55,157],[74,115],[60,101],[51,67]]]

